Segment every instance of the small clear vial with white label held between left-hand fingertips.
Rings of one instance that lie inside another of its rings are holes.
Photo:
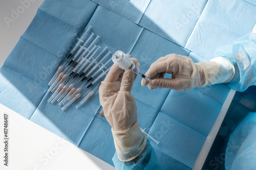
[[[116,51],[112,55],[112,61],[124,70],[130,69],[134,66],[134,62],[132,61],[132,59],[124,54],[122,51]]]

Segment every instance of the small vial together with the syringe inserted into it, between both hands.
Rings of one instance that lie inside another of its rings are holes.
[[[126,70],[126,69],[132,69],[133,72],[139,76],[141,76],[146,81],[150,82],[151,79],[146,77],[144,74],[142,74],[137,67],[135,67],[134,62],[130,57],[128,57],[126,54],[124,54],[122,51],[116,51],[112,55],[112,61],[116,63],[120,68]]]

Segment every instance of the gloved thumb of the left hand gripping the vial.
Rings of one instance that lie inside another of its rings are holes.
[[[133,82],[134,82],[134,72],[131,69],[127,69],[123,73],[123,78],[121,82],[121,87],[120,91],[132,91],[133,87]]]

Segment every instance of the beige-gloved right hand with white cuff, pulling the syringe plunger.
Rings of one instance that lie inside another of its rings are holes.
[[[164,79],[165,73],[172,74],[172,79]],[[195,64],[189,57],[169,54],[150,66],[145,76],[153,80],[148,83],[143,79],[141,85],[148,85],[151,90],[170,88],[185,91],[194,87],[227,82],[233,75],[233,65],[223,57]]]

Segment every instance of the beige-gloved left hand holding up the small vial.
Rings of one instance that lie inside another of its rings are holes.
[[[137,59],[132,60],[139,65]],[[136,76],[133,70],[124,71],[113,64],[99,88],[100,104],[112,127],[118,158],[124,162],[136,158],[146,144],[146,136],[141,132],[137,120],[135,99],[131,95]]]

